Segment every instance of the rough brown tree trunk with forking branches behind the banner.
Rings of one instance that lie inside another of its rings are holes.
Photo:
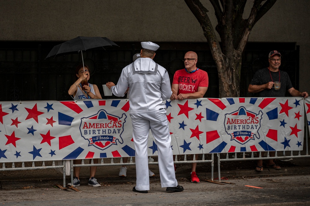
[[[216,31],[199,0],[184,0],[204,31],[211,54],[218,69],[219,98],[240,96],[240,72],[242,54],[254,24],[274,5],[276,0],[254,0],[249,18],[242,18],[247,0],[209,0],[218,20]],[[221,5],[220,5],[221,3]]]

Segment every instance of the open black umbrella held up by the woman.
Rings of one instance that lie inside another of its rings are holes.
[[[71,39],[69,41],[54,46],[50,51],[50,53],[48,53],[46,58],[51,56],[56,57],[59,55],[78,53],[79,51],[81,51],[82,61],[84,65],[82,51],[93,48],[105,49],[106,47],[110,46],[118,46],[118,45],[106,37],[76,37],[74,39]]]

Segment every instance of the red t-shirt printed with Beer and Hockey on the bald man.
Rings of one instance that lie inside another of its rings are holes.
[[[198,87],[208,87],[209,77],[207,72],[200,69],[193,73],[180,69],[174,73],[172,84],[179,85],[177,94],[194,93],[198,91]]]

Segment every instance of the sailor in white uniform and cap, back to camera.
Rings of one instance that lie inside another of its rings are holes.
[[[129,87],[129,114],[133,125],[133,142],[136,149],[137,182],[134,192],[150,190],[147,140],[151,129],[158,148],[158,165],[162,187],[166,191],[183,191],[175,178],[171,137],[163,100],[171,97],[168,72],[153,61],[159,46],[153,42],[141,42],[141,58],[126,66],[117,85],[106,85],[115,96],[124,96]]]

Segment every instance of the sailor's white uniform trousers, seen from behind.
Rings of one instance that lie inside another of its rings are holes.
[[[158,150],[158,166],[161,187],[176,187],[171,136],[165,109],[155,112],[130,114],[133,124],[133,142],[136,149],[136,190],[150,190],[147,140],[150,129]]]

